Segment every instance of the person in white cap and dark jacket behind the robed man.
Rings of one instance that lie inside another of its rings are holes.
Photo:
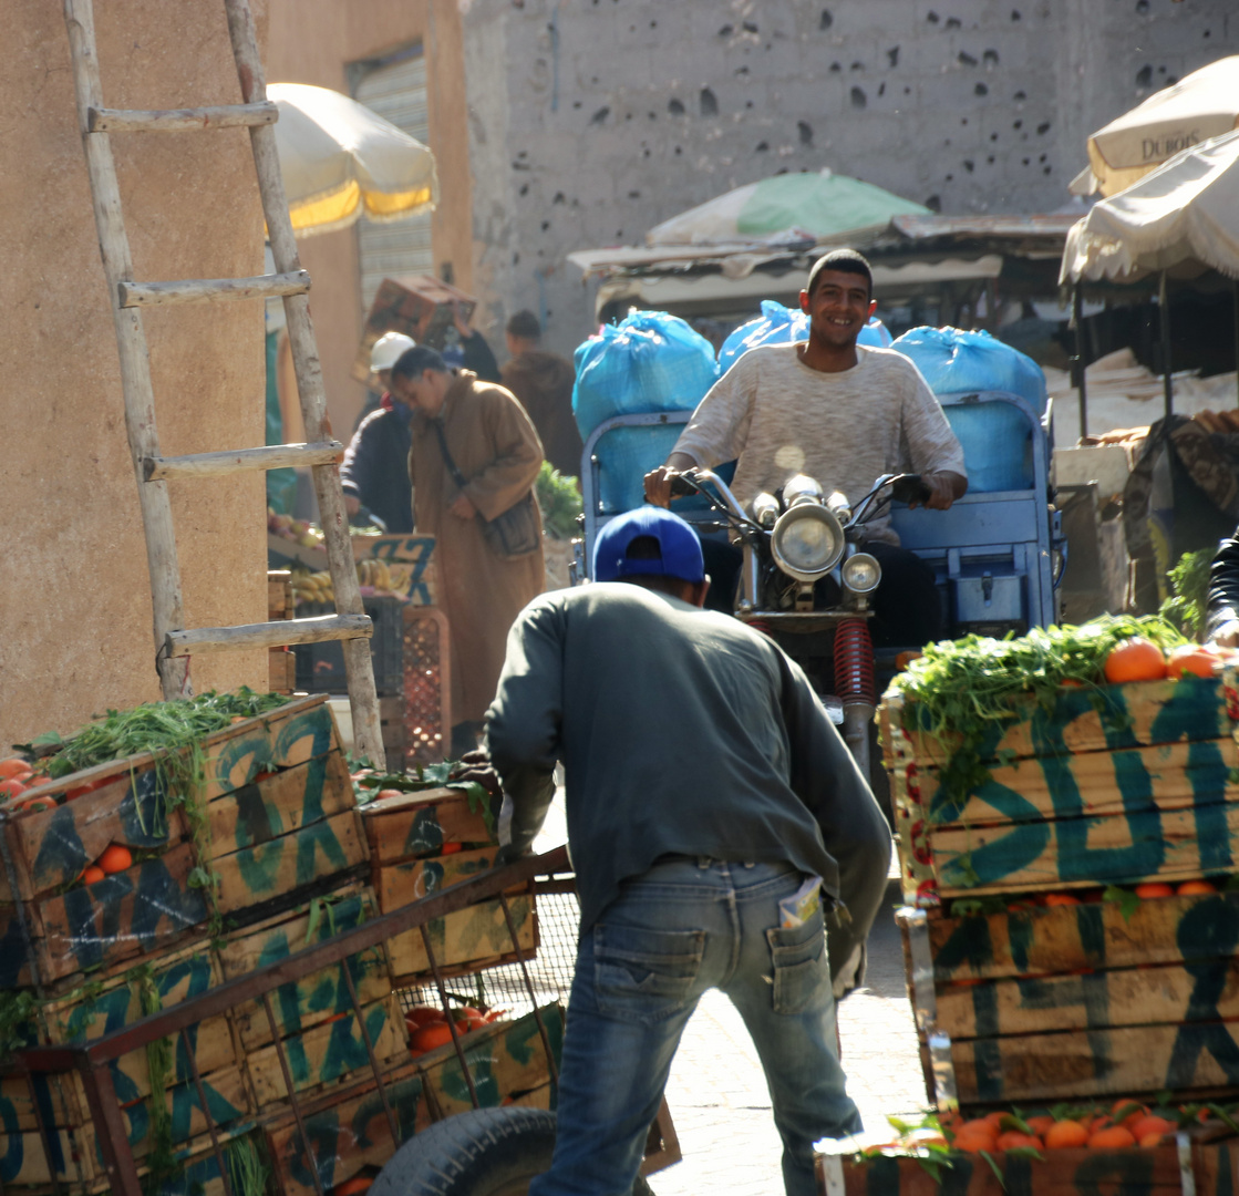
[[[393,534],[413,530],[413,487],[409,485],[409,420],[411,411],[390,392],[392,367],[414,347],[413,337],[385,332],[370,350],[370,371],[383,388],[363,413],[344,450],[339,483],[349,518],[364,507]]]

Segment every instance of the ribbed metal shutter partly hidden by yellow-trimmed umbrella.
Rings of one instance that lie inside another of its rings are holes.
[[[426,59],[420,46],[367,71],[357,83],[356,98],[409,136],[429,144]],[[357,240],[366,311],[383,279],[435,273],[429,212],[393,224],[373,224],[362,217]]]

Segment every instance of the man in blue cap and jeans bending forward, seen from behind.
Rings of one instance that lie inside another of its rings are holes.
[[[487,713],[504,856],[528,850],[561,760],[581,899],[554,1161],[530,1196],[631,1190],[711,988],[761,1057],[787,1192],[810,1196],[814,1141],[860,1129],[835,992],[859,982],[886,820],[800,669],[701,609],[710,583],[683,519],[612,519],[593,576],[524,609]]]

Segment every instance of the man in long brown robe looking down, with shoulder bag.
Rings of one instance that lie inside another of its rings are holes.
[[[451,631],[450,754],[460,758],[477,746],[508,628],[545,586],[536,503],[535,547],[523,555],[497,555],[482,528],[482,521],[525,502],[541,468],[541,444],[508,390],[467,369],[449,369],[424,345],[392,368],[392,395],[413,413],[414,524],[435,537],[439,605]]]

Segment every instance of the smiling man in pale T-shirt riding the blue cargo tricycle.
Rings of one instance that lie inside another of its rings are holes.
[[[882,473],[916,472],[932,493],[926,506],[945,511],[968,490],[964,454],[942,407],[917,367],[893,350],[859,346],[873,314],[872,273],[852,249],[819,258],[800,291],[809,340],[750,350],[710,389],[665,465],[646,475],[646,497],[665,507],[672,480],[693,466],[736,460],[732,491],[747,503],[773,493],[795,473],[817,478],[855,504]],[[873,596],[875,640],[897,644],[939,637],[942,612],[933,574],[886,517],[870,521],[865,548],[882,565]],[[706,566],[725,597],[735,590],[735,560],[716,559],[730,545],[707,545]],[[720,552],[721,549],[721,552]]]

